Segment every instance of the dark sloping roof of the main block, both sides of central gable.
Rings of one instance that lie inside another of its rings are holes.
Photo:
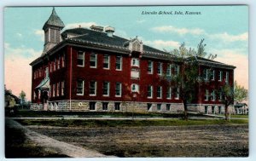
[[[62,35],[64,35],[65,33],[73,33],[78,35],[77,37],[73,37],[72,39],[89,41],[94,43],[107,43],[108,45],[118,46],[122,48],[124,47],[124,44],[127,41],[129,41],[128,39],[125,39],[123,37],[118,37],[115,35],[113,35],[113,37],[108,37],[106,32],[97,32],[87,28],[68,29],[65,32],[62,32]],[[161,51],[160,49],[154,49],[144,44],[143,44],[143,50],[144,52],[153,52],[153,53],[169,55],[166,52]]]

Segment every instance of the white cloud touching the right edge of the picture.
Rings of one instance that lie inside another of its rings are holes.
[[[248,32],[239,35],[230,35],[227,32],[224,32],[219,34],[208,34],[208,37],[212,39],[220,39],[224,42],[248,41]]]

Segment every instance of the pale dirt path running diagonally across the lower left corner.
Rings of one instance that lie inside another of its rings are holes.
[[[113,157],[113,156],[103,155],[102,153],[99,153],[96,151],[84,149],[83,147],[73,146],[72,144],[68,144],[63,141],[56,141],[55,139],[52,139],[46,135],[41,135],[41,134],[38,134],[37,132],[27,129],[26,127],[22,126],[21,124],[9,118],[6,119],[6,122],[7,122],[6,124],[11,128],[22,129],[26,137],[28,137],[28,139],[38,143],[41,147],[53,150],[55,152],[60,152],[69,157],[73,157],[73,158]],[[70,135],[69,137],[72,137],[72,136]]]

